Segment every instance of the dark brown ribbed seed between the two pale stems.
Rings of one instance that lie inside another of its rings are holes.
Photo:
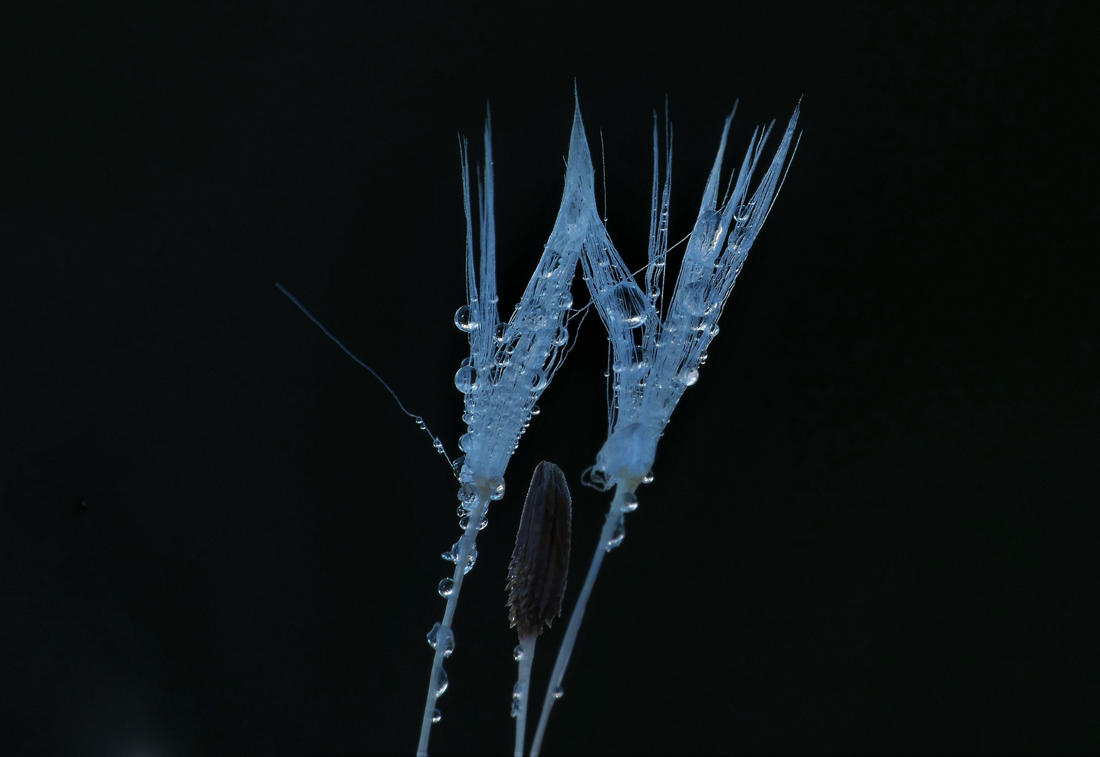
[[[565,474],[553,463],[535,468],[508,565],[508,620],[520,639],[542,633],[561,614],[569,576],[573,502]]]

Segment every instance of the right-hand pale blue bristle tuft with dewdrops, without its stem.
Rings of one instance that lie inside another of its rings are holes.
[[[614,401],[608,408],[608,438],[587,482],[605,489],[619,481],[638,482],[649,471],[657,442],[684,389],[698,380],[700,366],[718,333],[718,318],[740,274],[752,242],[778,191],[794,135],[799,109],[756,191],[749,181],[771,134],[757,130],[741,160],[736,181],[719,198],[722,158],[733,114],[726,119],[718,155],[703,192],[694,230],[688,240],[680,275],[662,314],[663,275],[668,255],[671,130],[666,154],[663,191],[658,194],[658,140],[653,124],[653,190],[646,290],[635,282],[623,258],[593,214],[587,224],[582,264],[584,278],[607,326],[612,343]],[[656,121],[656,116],[654,116]]]

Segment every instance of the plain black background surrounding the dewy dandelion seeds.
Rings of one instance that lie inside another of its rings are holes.
[[[36,5],[2,27],[0,752],[415,748],[455,483],[274,285],[453,453],[455,134],[488,99],[504,305],[553,223],[574,77],[635,266],[666,94],[674,240],[736,98],[734,154],[803,94],[804,135],[547,750],[1100,748],[1085,15]],[[566,606],[591,559],[595,319],[576,344],[481,535],[436,754],[510,749],[504,579],[539,460],[573,487]]]

